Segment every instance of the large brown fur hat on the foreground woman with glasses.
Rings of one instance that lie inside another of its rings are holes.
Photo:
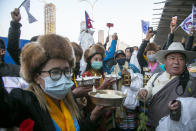
[[[40,36],[38,42],[27,44],[21,53],[21,75],[27,82],[33,82],[45,63],[52,58],[65,59],[71,67],[75,63],[74,50],[71,44],[56,34]]]

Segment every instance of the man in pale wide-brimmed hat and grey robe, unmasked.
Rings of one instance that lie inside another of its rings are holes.
[[[186,51],[180,42],[173,42],[168,50],[156,53],[157,60],[165,64],[166,71],[154,74],[138,93],[140,99],[149,100],[148,117],[154,129],[162,117],[180,106],[179,102],[171,101],[180,96],[196,96],[196,80],[192,80],[191,85],[187,84],[191,79],[186,67],[195,56],[196,52]]]

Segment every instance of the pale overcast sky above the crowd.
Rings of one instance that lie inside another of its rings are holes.
[[[90,0],[94,1],[94,0]],[[117,32],[119,39],[130,46],[140,45],[142,41],[141,19],[152,21],[154,5],[160,0],[98,0],[93,12],[94,39],[97,41],[98,30],[102,29],[107,35],[106,23],[114,23],[110,33]],[[0,0],[0,36],[7,37],[10,26],[10,12],[17,8],[23,0]],[[92,18],[91,6],[79,0],[45,0],[56,5],[56,33],[68,37],[71,41],[78,42],[80,22],[85,20],[86,10]],[[29,24],[27,14],[21,7],[21,38],[30,39],[32,36],[44,33],[44,5],[43,0],[31,0],[32,15],[38,20]],[[143,36],[144,37],[144,36]]]

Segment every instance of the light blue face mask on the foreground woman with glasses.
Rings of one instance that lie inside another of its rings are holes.
[[[64,75],[58,81],[54,81],[48,76],[44,78],[44,82],[44,92],[57,100],[62,100],[74,85],[73,81]]]

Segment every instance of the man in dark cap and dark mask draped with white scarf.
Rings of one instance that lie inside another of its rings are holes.
[[[139,105],[136,96],[142,88],[143,76],[135,65],[127,61],[123,50],[117,50],[114,59],[117,64],[112,67],[111,72],[121,76],[116,89],[127,94],[123,106],[116,110],[117,127],[121,130],[134,130],[137,126],[135,109]]]

